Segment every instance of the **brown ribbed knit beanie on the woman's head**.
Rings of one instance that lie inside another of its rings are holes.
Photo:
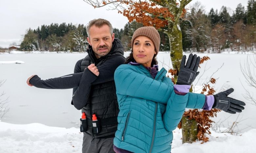
[[[158,54],[159,47],[160,47],[160,35],[157,31],[157,29],[154,26],[143,26],[138,28],[134,33],[132,37],[132,49],[133,49],[133,42],[134,40],[139,36],[145,36],[152,40],[152,42],[155,45],[156,52]],[[157,55],[156,54],[156,55]]]

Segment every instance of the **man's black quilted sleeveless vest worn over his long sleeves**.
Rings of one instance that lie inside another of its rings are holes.
[[[103,64],[111,56],[123,55],[120,53],[110,53],[104,59],[97,60],[95,65],[99,66]],[[89,55],[86,56],[81,62],[81,72],[92,63],[94,61],[90,59]],[[114,137],[117,131],[117,116],[119,112],[114,74],[112,81],[92,85],[89,98],[89,103],[82,108],[82,112],[86,114],[86,119],[90,121],[87,124],[86,133],[95,138]],[[98,134],[93,134],[91,124],[92,114],[96,114],[97,120],[100,121],[101,131]]]

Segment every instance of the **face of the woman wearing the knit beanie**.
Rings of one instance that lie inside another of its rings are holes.
[[[151,62],[156,54],[154,43],[145,36],[137,37],[133,42],[133,58],[137,63],[151,67]]]

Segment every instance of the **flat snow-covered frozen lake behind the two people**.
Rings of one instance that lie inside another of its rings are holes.
[[[8,107],[10,111],[2,118],[3,122],[13,124],[41,123],[55,127],[79,127],[81,111],[76,110],[71,105],[72,89],[68,90],[49,90],[29,87],[26,80],[31,75],[38,75],[42,79],[48,79],[73,73],[77,60],[84,58],[87,53],[63,53],[63,54],[0,54],[0,61],[24,61],[25,64],[0,64],[0,80],[6,82],[0,87],[0,92],[6,93],[3,98],[9,97]],[[127,56],[128,53],[125,53]],[[186,54],[188,55],[188,54]],[[203,57],[207,54],[198,54]],[[215,84],[215,90],[219,92],[223,85],[235,89],[231,97],[245,101],[242,94],[245,94],[242,84],[251,92],[256,93],[255,88],[249,87],[245,83],[243,74],[240,70],[240,63],[245,63],[245,54],[209,54],[211,59],[204,63],[199,69],[200,78],[197,86],[201,86],[206,80],[216,72],[213,77],[219,78]],[[169,53],[160,52],[158,54],[159,67],[168,68],[170,62]],[[163,64],[165,63],[165,64]],[[204,68],[206,66],[206,68]],[[195,80],[197,82],[197,80]],[[225,88],[226,89],[226,88]],[[254,97],[256,95],[254,94]],[[256,97],[255,97],[256,98]],[[245,101],[246,102],[246,101]],[[223,126],[232,125],[236,118],[239,122],[239,129],[249,130],[256,128],[256,118],[254,112],[256,106],[246,103],[245,110],[239,114],[230,115],[220,112],[213,120]],[[239,115],[239,116],[238,116]]]

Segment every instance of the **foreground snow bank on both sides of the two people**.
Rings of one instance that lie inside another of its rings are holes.
[[[39,123],[17,125],[0,122],[1,153],[81,152],[82,136],[77,128],[48,127]],[[256,129],[238,136],[212,132],[209,142],[182,144],[181,129],[173,133],[172,153],[254,153]]]

